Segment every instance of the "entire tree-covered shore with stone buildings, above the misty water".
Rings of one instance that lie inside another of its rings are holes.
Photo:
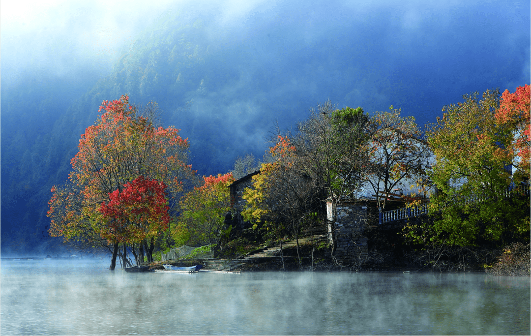
[[[262,161],[202,178],[189,140],[155,126],[156,103],[105,100],[52,188],[49,233],[112,253],[110,270],[188,256],[217,270],[530,276],[530,91],[464,95],[424,130],[393,106],[327,101],[272,131]]]

